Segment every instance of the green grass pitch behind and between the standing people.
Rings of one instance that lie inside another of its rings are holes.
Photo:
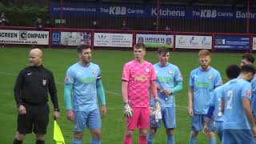
[[[14,102],[13,88],[18,72],[28,66],[28,52],[26,48],[0,49],[0,142],[12,143],[17,126],[17,108]],[[66,143],[71,143],[72,122],[66,120],[63,101],[63,82],[66,69],[78,61],[76,50],[43,50],[43,65],[54,73],[58,89],[58,101],[61,109],[61,118],[58,124]],[[227,81],[225,75],[226,66],[236,64],[242,54],[238,53],[212,53],[212,66],[220,71],[223,82]],[[106,91],[106,106],[108,114],[102,118],[102,143],[120,144],[125,133],[126,122],[122,115],[121,77],[124,63],[133,59],[131,51],[119,50],[94,50],[93,61],[102,69],[102,82]],[[157,54],[153,51],[146,53],[146,59],[157,62]],[[188,143],[190,138],[190,117],[186,113],[187,91],[189,86],[190,71],[198,66],[198,52],[171,52],[170,62],[179,67],[182,72],[183,89],[176,97],[177,104],[177,128],[174,130],[177,144]],[[50,99],[50,98],[49,98]],[[53,112],[52,103],[50,111]],[[53,119],[50,114],[50,123],[46,134],[46,143],[53,142]],[[138,143],[138,130],[134,132],[134,143]],[[90,131],[86,130],[83,143],[90,142]],[[23,143],[34,143],[34,134],[27,134]],[[166,143],[164,127],[158,130],[154,143]],[[206,137],[200,133],[198,143],[208,143]]]

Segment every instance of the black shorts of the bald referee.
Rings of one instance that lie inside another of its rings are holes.
[[[49,106],[43,104],[39,106],[24,104],[26,114],[18,114],[18,132],[30,134],[32,130],[35,134],[46,134],[49,122]]]

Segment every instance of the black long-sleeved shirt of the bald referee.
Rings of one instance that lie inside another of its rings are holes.
[[[52,72],[42,65],[28,66],[20,71],[14,86],[17,106],[22,103],[45,104],[48,101],[48,92],[54,104],[54,110],[58,110],[57,90]]]

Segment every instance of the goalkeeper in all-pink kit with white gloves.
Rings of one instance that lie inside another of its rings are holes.
[[[150,62],[144,60],[146,47],[142,43],[134,46],[134,60],[126,63],[122,74],[122,98],[125,104],[126,116],[125,144],[132,143],[133,131],[139,129],[139,144],[146,144],[146,134],[149,128],[150,95],[149,87],[158,103],[158,94],[155,86],[156,75]],[[158,109],[160,108],[159,104]]]

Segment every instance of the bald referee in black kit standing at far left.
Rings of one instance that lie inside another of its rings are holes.
[[[54,76],[42,66],[42,51],[30,50],[30,66],[18,74],[14,97],[18,107],[18,128],[14,144],[20,144],[26,134],[34,131],[36,144],[44,144],[44,134],[49,122],[48,93],[54,104],[54,118],[59,118],[57,90]]]

